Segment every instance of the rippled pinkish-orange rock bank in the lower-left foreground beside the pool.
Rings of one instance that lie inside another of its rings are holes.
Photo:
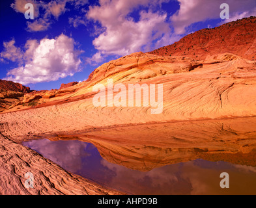
[[[67,172],[33,149],[13,142],[0,133],[0,194],[2,195],[119,195],[117,190],[98,185]],[[34,187],[25,188],[27,172],[33,173]]]

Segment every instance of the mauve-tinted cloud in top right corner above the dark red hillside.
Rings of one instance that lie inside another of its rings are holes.
[[[186,27],[192,23],[220,18],[220,5],[223,3],[222,0],[207,2],[205,0],[178,0],[178,2],[180,9],[170,18],[177,34],[185,33]],[[238,14],[243,12],[245,13],[241,16],[242,18],[255,14],[255,0],[226,0],[225,3],[229,5],[230,18],[233,20],[239,18]]]

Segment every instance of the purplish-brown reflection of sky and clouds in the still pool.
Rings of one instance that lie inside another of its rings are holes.
[[[130,194],[256,194],[256,168],[251,166],[197,159],[140,172],[107,162],[94,145],[79,140],[23,144],[65,170]],[[221,172],[229,173],[230,188],[220,188]]]

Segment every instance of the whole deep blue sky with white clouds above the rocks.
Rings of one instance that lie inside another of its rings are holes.
[[[110,60],[249,16],[256,0],[1,0],[0,79],[58,89]]]

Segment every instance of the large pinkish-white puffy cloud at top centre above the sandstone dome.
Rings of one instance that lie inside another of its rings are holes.
[[[149,0],[102,0],[100,6],[90,6],[88,18],[98,21],[104,31],[92,42],[100,53],[94,55],[128,55],[147,51],[153,42],[163,43],[170,37],[171,29],[164,12],[141,10],[139,21],[129,16],[139,5],[160,5],[162,1]],[[163,46],[163,45],[162,45]],[[101,60],[101,59],[100,59]]]

